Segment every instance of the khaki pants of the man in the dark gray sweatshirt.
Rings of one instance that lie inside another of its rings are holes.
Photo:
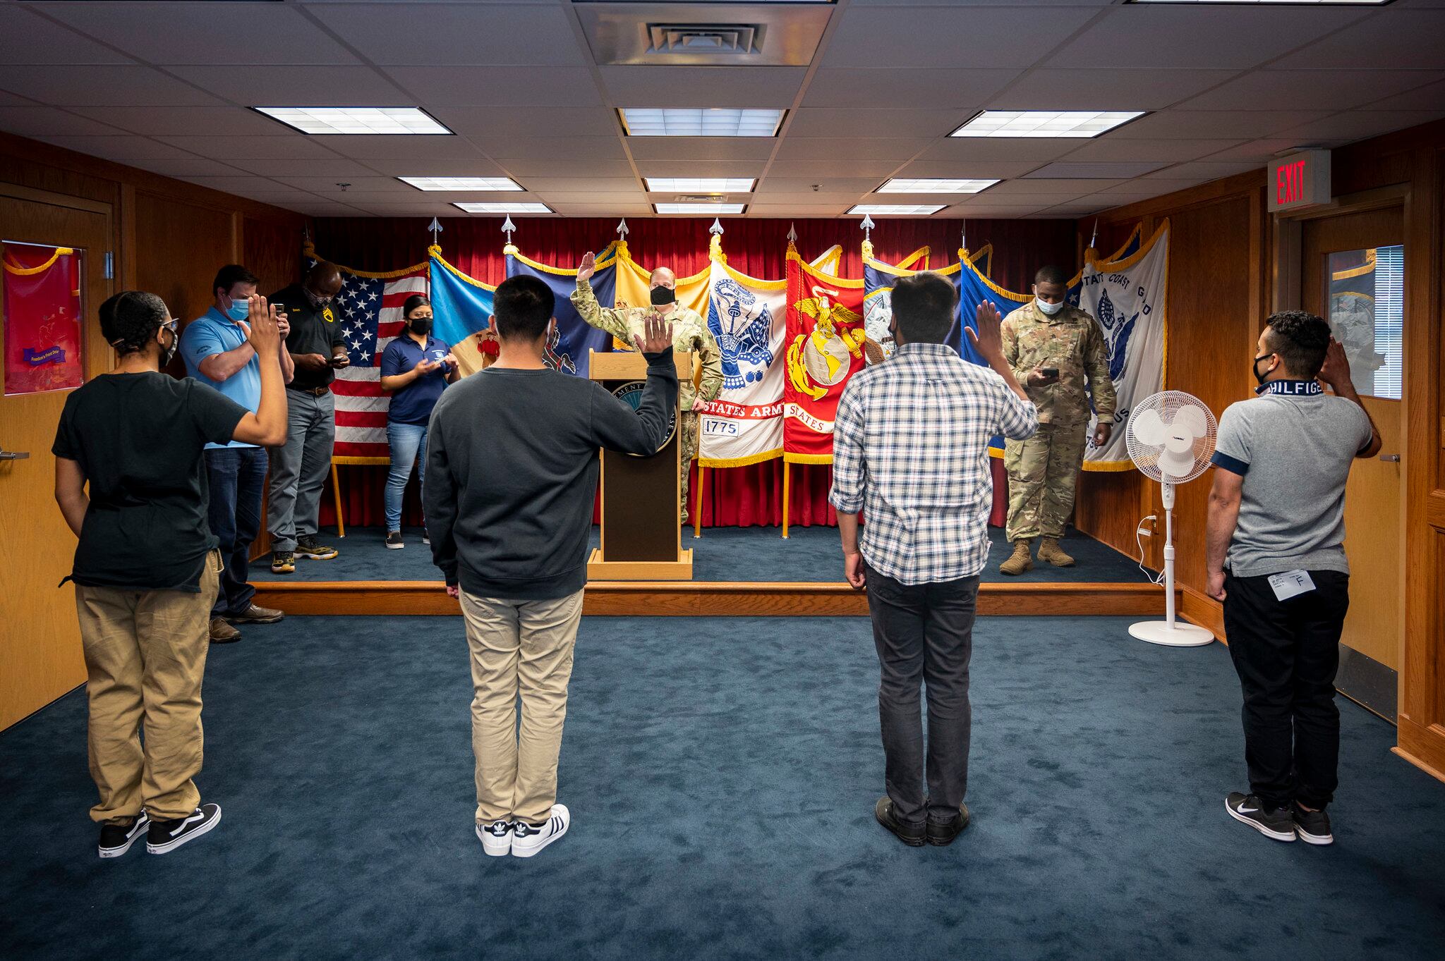
[[[556,802],[556,760],[582,592],[555,600],[500,600],[464,590],[461,610],[475,690],[471,749],[477,756],[477,821],[542,824]]]

